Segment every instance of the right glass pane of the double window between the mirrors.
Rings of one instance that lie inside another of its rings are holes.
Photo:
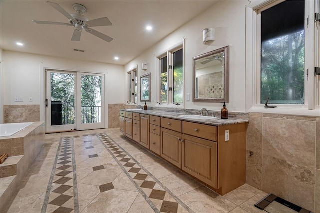
[[[183,49],[173,53],[173,102],[183,102]]]

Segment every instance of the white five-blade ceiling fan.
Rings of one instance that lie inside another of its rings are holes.
[[[58,10],[62,15],[67,17],[69,19],[69,23],[32,20],[34,23],[73,26],[74,31],[72,34],[71,41],[79,41],[81,38],[81,32],[83,29],[85,31],[87,31],[88,33],[95,35],[95,36],[97,36],[107,42],[111,42],[113,40],[113,38],[111,38],[110,36],[107,36],[101,32],[98,32],[98,31],[90,28],[90,27],[94,27],[94,26],[112,26],[113,24],[111,23],[111,21],[107,17],[89,20],[87,17],[82,15],[84,12],[86,12],[86,8],[85,8],[85,6],[83,6],[81,4],[78,4],[78,3],[73,4],[73,9],[76,11],[76,13],[69,14],[59,4],[53,3],[50,1],[46,1],[46,2],[48,4],[50,4],[52,7],[54,7],[56,10]]]

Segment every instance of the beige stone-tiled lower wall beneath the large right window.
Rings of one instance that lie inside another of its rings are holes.
[[[320,213],[320,117],[250,113],[246,183]]]

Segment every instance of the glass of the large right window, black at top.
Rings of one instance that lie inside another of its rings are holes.
[[[304,0],[261,12],[261,41],[260,103],[304,104]]]

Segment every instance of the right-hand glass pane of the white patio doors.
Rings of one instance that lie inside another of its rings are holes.
[[[81,123],[100,123],[102,77],[81,75]]]

